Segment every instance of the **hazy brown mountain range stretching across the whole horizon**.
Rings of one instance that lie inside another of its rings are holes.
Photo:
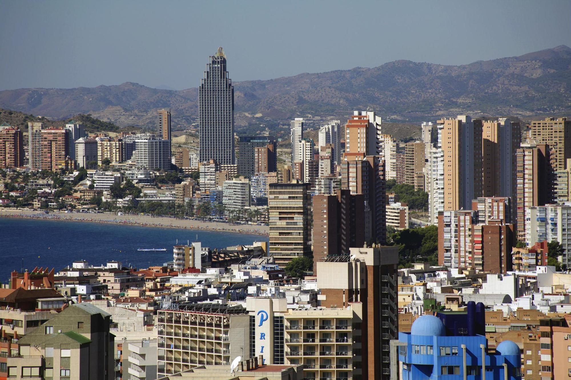
[[[368,107],[387,120],[414,123],[460,114],[565,115],[571,114],[571,48],[461,66],[396,60],[234,85],[238,127],[277,125],[296,116],[343,119]],[[131,82],[20,88],[0,91],[0,107],[54,119],[91,114],[118,126],[153,126],[155,110],[171,108],[174,126],[184,127],[198,121],[198,88],[164,90]]]

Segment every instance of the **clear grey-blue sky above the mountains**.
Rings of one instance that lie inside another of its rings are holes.
[[[0,90],[197,87],[219,46],[234,81],[571,46],[568,0],[0,0],[0,14]]]

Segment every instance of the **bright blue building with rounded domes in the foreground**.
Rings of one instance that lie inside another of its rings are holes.
[[[521,379],[521,353],[516,343],[501,342],[495,353],[489,353],[485,335],[478,334],[485,325],[480,313],[483,306],[471,301],[467,313],[420,316],[410,333],[399,333],[402,378],[480,380],[485,371],[486,380]]]

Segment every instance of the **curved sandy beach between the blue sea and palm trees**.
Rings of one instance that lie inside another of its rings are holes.
[[[31,218],[61,221],[86,221],[92,223],[118,223],[126,225],[142,225],[145,227],[199,229],[203,231],[243,232],[253,235],[268,236],[269,228],[261,225],[218,223],[211,221],[175,219],[162,216],[116,215],[115,213],[66,213],[22,209],[0,209],[0,217]]]

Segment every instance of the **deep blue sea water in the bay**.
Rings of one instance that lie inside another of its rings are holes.
[[[123,266],[148,268],[172,261],[172,246],[200,241],[203,247],[268,241],[268,237],[240,232],[140,227],[113,223],[15,219],[0,217],[0,282],[13,270],[55,268],[55,273],[76,260],[101,265],[121,261]],[[166,248],[166,251],[138,251]]]

